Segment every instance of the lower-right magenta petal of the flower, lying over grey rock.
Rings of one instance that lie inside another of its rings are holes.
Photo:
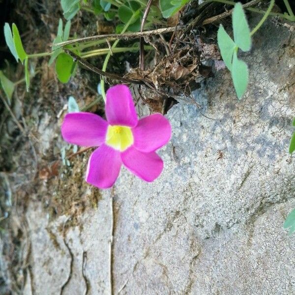
[[[123,164],[134,175],[145,181],[155,180],[163,170],[163,161],[155,153],[144,153],[134,147],[121,153]]]

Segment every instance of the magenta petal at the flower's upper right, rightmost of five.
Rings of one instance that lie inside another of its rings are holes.
[[[150,152],[166,145],[171,138],[171,125],[167,118],[156,113],[138,121],[132,129],[134,147]]]

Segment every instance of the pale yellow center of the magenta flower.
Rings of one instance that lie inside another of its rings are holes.
[[[133,134],[130,127],[109,125],[106,144],[112,148],[123,151],[133,145]]]

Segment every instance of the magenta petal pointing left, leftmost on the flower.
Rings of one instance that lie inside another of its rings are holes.
[[[61,135],[71,144],[85,147],[97,147],[104,143],[108,122],[91,113],[66,114],[62,125]]]

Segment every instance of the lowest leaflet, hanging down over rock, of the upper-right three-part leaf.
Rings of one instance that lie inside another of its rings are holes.
[[[233,56],[232,79],[236,89],[236,95],[240,99],[248,86],[248,66],[244,61],[237,58],[236,50]]]

